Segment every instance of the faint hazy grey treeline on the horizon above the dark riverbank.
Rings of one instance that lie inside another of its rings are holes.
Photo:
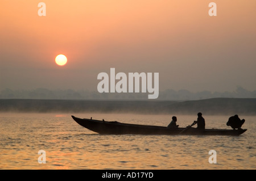
[[[0,99],[75,99],[75,100],[147,100],[148,93],[99,93],[86,90],[11,90],[0,91]],[[256,98],[256,91],[248,91],[238,86],[233,92],[190,92],[168,89],[159,92],[157,100],[200,100],[210,98]]]

